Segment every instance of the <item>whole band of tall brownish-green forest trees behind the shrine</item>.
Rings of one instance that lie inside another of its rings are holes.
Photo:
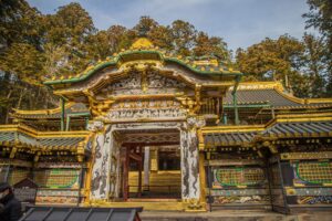
[[[156,46],[181,56],[216,57],[245,73],[243,81],[281,81],[298,97],[332,97],[332,1],[307,4],[303,22],[318,34],[262,36],[231,51],[221,36],[183,20],[162,25],[144,15],[133,28],[112,24],[97,30],[80,3],[42,14],[25,0],[0,0],[0,124],[9,123],[12,108],[58,106],[59,97],[42,85],[44,80],[80,73],[128,49],[142,29]]]

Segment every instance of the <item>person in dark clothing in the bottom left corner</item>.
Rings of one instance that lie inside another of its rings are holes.
[[[21,218],[21,202],[17,200],[8,182],[0,183],[0,221],[18,221]]]

